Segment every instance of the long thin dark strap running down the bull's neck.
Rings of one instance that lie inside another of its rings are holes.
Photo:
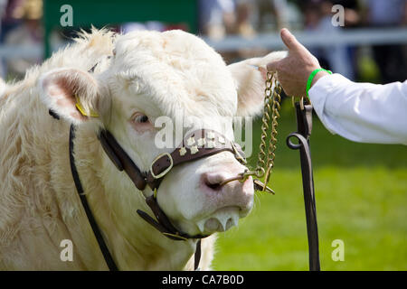
[[[93,234],[95,235],[95,238],[98,241],[100,251],[102,252],[103,257],[105,258],[105,261],[106,261],[107,266],[109,267],[109,270],[118,271],[118,266],[116,266],[116,263],[113,260],[113,257],[110,255],[109,248],[106,245],[106,242],[102,237],[98,223],[96,222],[96,219],[93,217],[93,214],[90,210],[90,206],[89,206],[88,200],[86,199],[86,195],[83,193],[83,187],[82,187],[82,184],[80,183],[80,177],[79,177],[78,170],[76,169],[75,157],[73,154],[73,152],[74,152],[73,140],[74,139],[75,139],[75,126],[71,125],[69,145],[70,145],[71,174],[73,177],[73,182],[75,183],[76,191],[78,191],[78,194],[80,196],[80,201],[82,203],[83,209],[85,210],[86,216],[88,217],[90,227],[92,228]]]

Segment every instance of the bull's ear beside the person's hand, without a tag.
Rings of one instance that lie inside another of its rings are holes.
[[[266,66],[287,56],[286,51],[271,52],[262,58],[251,58],[229,65],[232,77],[236,81],[238,108],[240,117],[260,115],[263,109]]]

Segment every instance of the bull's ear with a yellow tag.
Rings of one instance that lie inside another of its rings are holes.
[[[40,97],[54,113],[80,124],[99,117],[107,106],[99,85],[90,73],[76,69],[57,69],[45,73],[38,83]]]

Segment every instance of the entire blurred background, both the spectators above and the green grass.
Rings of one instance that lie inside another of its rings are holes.
[[[71,23],[62,5],[71,5]],[[342,26],[333,24],[334,5],[344,8]],[[0,14],[0,76],[6,80],[24,78],[25,70],[91,25],[121,33],[182,29],[203,37],[227,63],[284,49],[279,29],[288,27],[324,68],[348,79],[407,79],[405,0],[0,0]],[[407,149],[351,143],[330,135],[317,117],[314,122],[322,269],[406,270]],[[258,147],[260,122],[254,126]],[[298,152],[285,146],[295,127],[284,101],[270,183],[277,194],[256,196],[251,215],[220,235],[214,269],[308,269]],[[335,239],[344,241],[344,261],[331,257]]]

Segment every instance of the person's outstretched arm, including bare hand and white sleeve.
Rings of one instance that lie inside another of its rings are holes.
[[[288,95],[306,96],[307,80],[320,68],[317,59],[281,30],[289,56],[269,63]],[[355,83],[340,74],[320,71],[308,96],[324,126],[355,142],[407,144],[407,80],[386,85]]]

